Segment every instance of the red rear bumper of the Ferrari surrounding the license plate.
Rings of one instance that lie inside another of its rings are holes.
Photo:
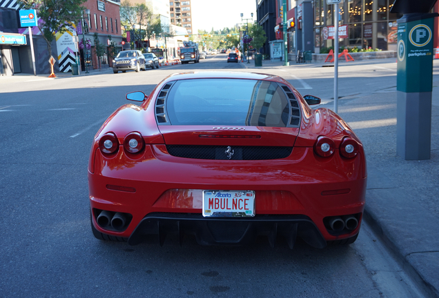
[[[135,159],[127,157],[122,148],[106,159],[97,149],[93,160],[93,170],[88,173],[93,224],[99,232],[115,237],[146,234],[142,222],[156,214],[170,214],[165,221],[148,219],[156,224],[163,221],[165,226],[175,226],[176,221],[188,226],[195,221],[197,226],[204,225],[199,224],[203,220],[241,220],[202,217],[203,190],[253,190],[256,216],[246,219],[248,222],[260,217],[286,217],[287,221],[306,217],[326,241],[353,237],[360,228],[367,183],[364,155],[346,160],[335,152],[321,162],[312,148],[293,148],[284,159],[225,163],[173,157],[166,147],[154,145],[146,146],[144,155]],[[101,210],[126,213],[130,220],[120,231],[103,228],[96,221]],[[196,216],[187,219],[184,215],[188,214]],[[358,227],[331,232],[328,218],[344,215],[357,216]],[[204,237],[208,235],[205,231],[199,235],[206,244],[218,242]]]

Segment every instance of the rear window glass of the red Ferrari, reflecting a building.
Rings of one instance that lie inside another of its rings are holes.
[[[286,127],[290,109],[277,83],[190,79],[172,86],[166,110],[171,125]]]

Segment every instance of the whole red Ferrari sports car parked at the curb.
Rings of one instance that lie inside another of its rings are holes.
[[[317,97],[269,74],[193,72],[126,98],[139,106],[117,109],[90,152],[97,239],[355,241],[367,182],[362,143],[335,112],[309,107]]]

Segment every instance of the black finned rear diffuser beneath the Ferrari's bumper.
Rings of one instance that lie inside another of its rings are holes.
[[[249,244],[257,236],[266,236],[271,246],[276,237],[284,237],[293,248],[296,237],[301,237],[315,248],[324,248],[326,240],[309,217],[303,215],[259,215],[251,219],[208,218],[199,214],[151,213],[142,219],[128,239],[128,244],[136,245],[148,235],[158,235],[162,246],[170,232],[179,235],[180,244],[184,235],[195,235],[202,245]]]

